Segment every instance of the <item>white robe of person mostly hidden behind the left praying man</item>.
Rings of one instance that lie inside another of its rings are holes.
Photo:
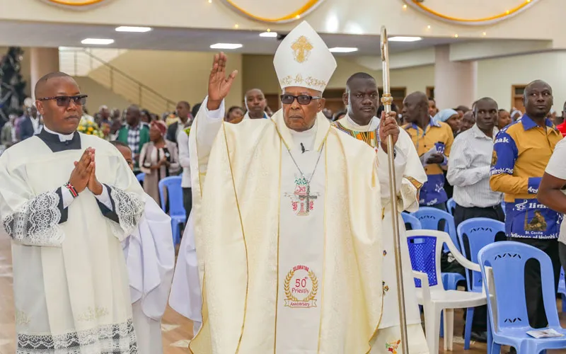
[[[175,247],[171,217],[149,195],[138,227],[122,247],[139,354],[163,353],[161,318],[173,279]]]

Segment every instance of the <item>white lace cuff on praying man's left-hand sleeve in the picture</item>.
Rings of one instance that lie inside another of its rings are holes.
[[[65,234],[59,227],[61,210],[55,190],[28,200],[4,218],[4,230],[12,239],[30,246],[60,246]]]

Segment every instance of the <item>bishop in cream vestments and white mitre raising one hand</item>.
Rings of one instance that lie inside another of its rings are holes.
[[[376,154],[330,127],[336,62],[303,22],[275,53],[282,109],[224,124],[216,55],[190,133],[203,324],[194,354],[368,353],[383,302]]]

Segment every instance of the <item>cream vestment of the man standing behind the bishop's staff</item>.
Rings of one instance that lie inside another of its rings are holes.
[[[374,117],[369,125],[358,125],[349,115],[335,122],[335,126],[342,131],[350,133],[353,137],[361,139],[359,132],[375,132],[381,120]],[[366,141],[367,142],[367,141]],[[393,219],[391,214],[391,199],[389,193],[389,166],[388,156],[380,146],[376,146],[377,139],[369,142],[376,148],[378,156],[379,182],[381,183],[381,203],[383,205],[383,316],[379,324],[376,344],[371,353],[381,353],[383,348],[397,350],[403,353],[400,346],[400,318],[397,296],[397,275],[395,273],[395,243],[393,240]],[[395,185],[397,187],[398,222],[401,236],[401,258],[403,263],[403,289],[405,290],[405,314],[409,338],[410,354],[428,353],[427,343],[422,331],[420,311],[417,303],[415,281],[412,277],[412,267],[409,257],[408,244],[405,239],[405,222],[400,212],[418,210],[418,193],[420,186],[427,181],[427,175],[420,164],[415,145],[405,132],[400,129],[398,141],[395,144]]]

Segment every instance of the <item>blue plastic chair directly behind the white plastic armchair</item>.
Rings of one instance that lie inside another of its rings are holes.
[[[456,227],[454,227],[454,217],[448,212],[439,210],[434,207],[419,207],[419,210],[413,212],[412,215],[419,219],[422,229],[444,231],[450,235],[452,243],[460,250],[460,244],[456,237]],[[445,220],[444,229],[439,228],[440,220]],[[448,246],[444,245],[444,251],[448,252]],[[461,252],[460,252],[461,253]],[[446,290],[456,290],[458,282],[466,280],[459,273],[442,273],[442,283]]]

